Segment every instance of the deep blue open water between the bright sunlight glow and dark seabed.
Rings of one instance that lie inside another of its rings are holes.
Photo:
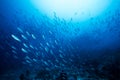
[[[28,0],[0,0],[0,73],[22,68],[79,68],[81,64],[91,61],[93,64],[98,61],[101,64],[110,62],[119,65],[120,10],[117,4],[112,5],[102,16],[91,17],[88,21],[77,24],[79,28],[75,28],[76,25],[72,22],[67,23],[59,18],[50,20],[43,16]],[[21,42],[12,38],[12,34]],[[33,39],[32,34],[36,39]],[[25,48],[23,43],[29,47]],[[46,47],[48,52],[45,51]],[[28,52],[23,52],[22,48]],[[30,63],[26,61],[26,56],[29,56]]]

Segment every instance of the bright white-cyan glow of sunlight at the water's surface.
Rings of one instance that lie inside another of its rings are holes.
[[[33,5],[49,18],[85,21],[107,10],[112,0],[32,0]]]

